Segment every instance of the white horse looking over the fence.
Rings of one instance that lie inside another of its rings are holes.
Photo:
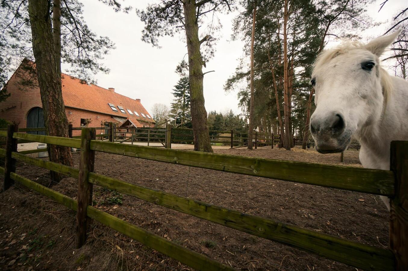
[[[310,132],[317,151],[342,152],[354,136],[363,167],[390,169],[391,141],[408,140],[408,82],[390,76],[379,58],[399,32],[320,53],[310,81],[316,91]],[[381,199],[389,210],[389,199]]]

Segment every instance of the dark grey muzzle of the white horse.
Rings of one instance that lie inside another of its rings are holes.
[[[324,116],[312,116],[310,133],[319,153],[342,152],[351,141],[351,133],[346,129],[344,117],[336,111],[324,114]]]

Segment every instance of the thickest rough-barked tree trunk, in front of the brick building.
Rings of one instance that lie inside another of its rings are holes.
[[[40,86],[45,128],[49,136],[69,137],[68,120],[62,100],[61,76],[55,57],[55,44],[47,0],[29,0],[29,17],[33,38],[33,53]],[[58,53],[60,54],[60,52]],[[72,166],[71,148],[51,145],[49,160]],[[59,182],[62,175],[52,172],[52,180]]]

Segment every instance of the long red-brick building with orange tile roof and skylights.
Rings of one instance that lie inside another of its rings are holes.
[[[0,103],[0,118],[19,124],[19,127],[44,127],[44,113],[38,80],[27,66],[35,63],[24,59],[6,87],[11,94]],[[31,78],[33,77],[33,78]],[[27,84],[31,78],[30,84]],[[65,112],[73,127],[105,127],[114,122],[117,127],[154,127],[155,120],[143,107],[140,99],[132,99],[62,73],[62,98]]]

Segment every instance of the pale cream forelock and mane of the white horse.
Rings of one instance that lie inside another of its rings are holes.
[[[317,56],[315,63],[313,64],[314,69],[318,69],[322,64],[330,61],[331,59],[335,58],[336,56],[342,54],[342,53],[347,53],[351,50],[354,49],[366,49],[365,48],[365,44],[359,42],[359,41],[351,41],[351,40],[344,40],[344,42],[342,42],[341,44],[337,45],[336,47],[330,48],[330,49],[326,49],[324,51],[322,51],[321,53],[319,53],[319,55]],[[379,58],[377,58],[378,62],[381,63],[379,61]],[[389,100],[390,97],[390,93],[393,87],[392,84],[392,77],[390,76],[390,74],[383,69],[383,67],[378,67],[377,70],[377,75],[380,78],[381,81],[381,87],[382,87],[382,91],[383,91],[383,96],[384,96],[384,112],[385,113],[385,109],[387,107],[387,101]]]

